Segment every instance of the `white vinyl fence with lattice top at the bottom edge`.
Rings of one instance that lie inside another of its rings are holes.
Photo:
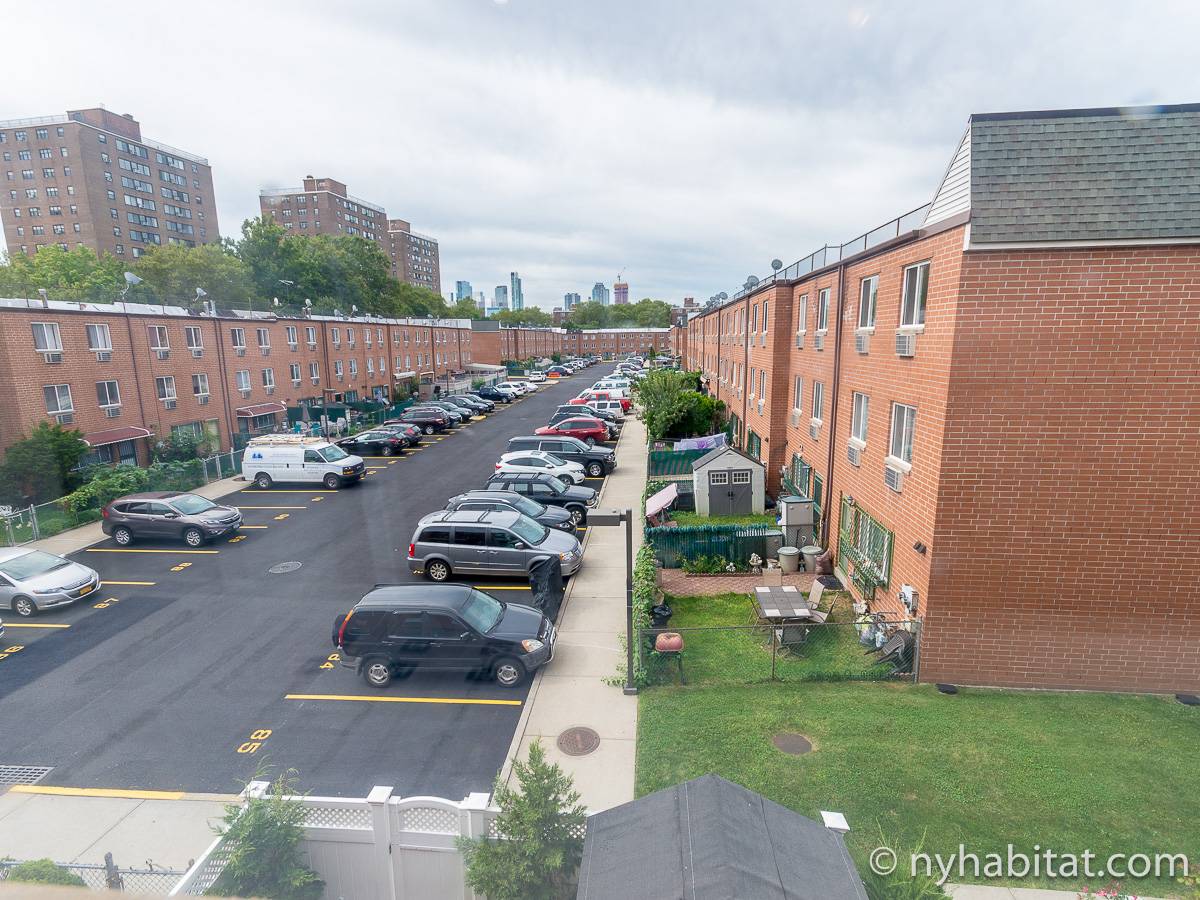
[[[244,798],[262,797],[252,781]],[[467,887],[455,838],[481,838],[497,810],[490,794],[461,803],[438,797],[392,797],[376,787],[365,799],[300,798],[308,810],[301,850],[325,881],[329,900],[479,900]],[[224,866],[218,839],[188,869],[172,896],[203,894]]]

